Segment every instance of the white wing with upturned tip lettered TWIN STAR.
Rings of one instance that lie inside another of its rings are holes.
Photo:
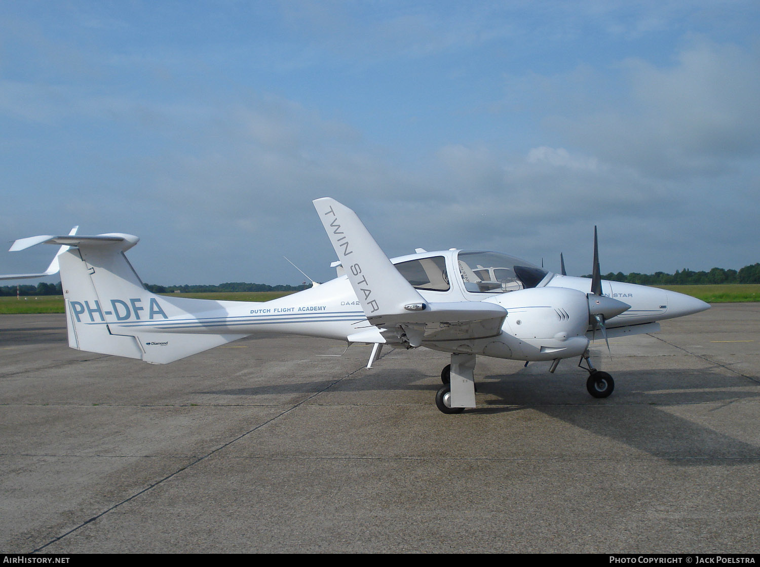
[[[313,203],[367,320],[383,335],[394,329],[402,343],[418,347],[426,330],[438,330],[440,323],[457,324],[459,334],[464,332],[468,339],[499,333],[504,307],[482,301],[427,302],[388,260],[353,210],[331,197]]]

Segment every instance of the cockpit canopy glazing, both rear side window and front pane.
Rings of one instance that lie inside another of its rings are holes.
[[[473,293],[505,293],[535,288],[546,277],[545,269],[498,252],[449,252],[463,287]],[[451,288],[446,258],[430,256],[395,264],[416,289],[448,291]]]

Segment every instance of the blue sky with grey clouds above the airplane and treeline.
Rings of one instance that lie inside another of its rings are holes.
[[[0,273],[81,225],[149,283],[324,281],[325,196],[389,256],[581,275],[599,225],[603,272],[739,269],[758,30],[757,0],[0,2]]]

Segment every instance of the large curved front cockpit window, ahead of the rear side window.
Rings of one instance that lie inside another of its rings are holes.
[[[525,260],[498,252],[460,252],[458,264],[464,288],[476,293],[535,288],[549,273]]]

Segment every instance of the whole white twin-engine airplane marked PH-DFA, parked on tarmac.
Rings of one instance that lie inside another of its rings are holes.
[[[606,398],[613,379],[594,368],[588,351],[597,332],[605,340],[654,332],[659,320],[710,307],[673,291],[600,279],[596,230],[590,280],[495,252],[417,249],[388,260],[353,210],[329,197],[314,206],[342,275],[263,303],[150,293],[124,254],[138,243],[132,235],[36,236],[15,241],[11,251],[68,247],[58,259],[72,348],[165,364],[252,333],[288,332],[372,344],[370,368],[382,345],[424,346],[451,353],[435,395],[445,414],[475,407],[478,354],[552,361],[551,372],[563,358],[580,357],[588,391]]]

